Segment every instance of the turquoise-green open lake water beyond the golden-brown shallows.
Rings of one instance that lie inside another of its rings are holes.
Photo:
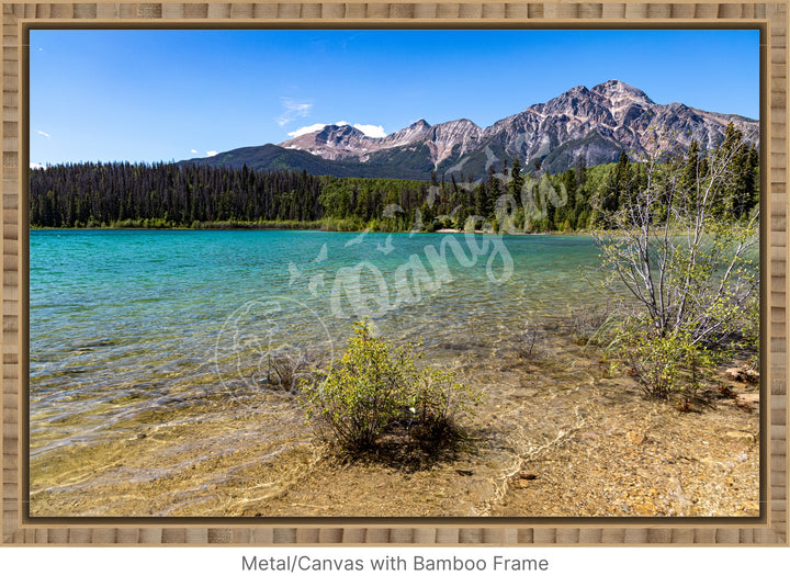
[[[31,230],[30,259],[32,459],[258,392],[273,354],[337,357],[362,316],[447,363],[598,295],[582,236]]]

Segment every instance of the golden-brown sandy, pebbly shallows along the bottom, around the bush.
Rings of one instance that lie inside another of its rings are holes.
[[[754,406],[713,387],[699,411],[648,402],[562,337],[531,360],[470,351],[460,372],[488,402],[467,422],[475,441],[430,463],[341,460],[313,440],[295,403],[217,394],[137,433],[32,460],[31,515],[757,515]],[[280,433],[261,437],[272,426]]]

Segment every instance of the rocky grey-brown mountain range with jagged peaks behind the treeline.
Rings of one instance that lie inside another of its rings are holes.
[[[484,176],[492,165],[500,170],[515,157],[528,169],[558,172],[579,158],[587,166],[613,162],[622,150],[640,157],[670,140],[681,147],[697,140],[706,150],[723,138],[730,123],[756,139],[755,120],[677,102],[656,104],[642,90],[610,80],[594,88],[572,88],[486,128],[466,118],[435,126],[420,120],[374,138],[352,126],[327,125],[280,145],[245,147],[192,161],[305,169],[336,177],[428,179],[436,172],[466,179]]]

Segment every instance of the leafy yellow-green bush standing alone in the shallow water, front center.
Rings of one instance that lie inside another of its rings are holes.
[[[304,390],[307,418],[350,452],[372,450],[386,430],[436,441],[459,433],[456,416],[481,396],[454,383],[451,373],[418,369],[414,345],[394,347],[371,332],[366,320],[338,365]]]

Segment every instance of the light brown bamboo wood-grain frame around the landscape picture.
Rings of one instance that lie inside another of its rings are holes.
[[[787,239],[787,2],[19,2],[2,4],[2,543],[3,544],[788,544],[788,239]],[[470,23],[601,26],[607,23],[764,26],[763,92],[763,482],[765,517],[721,520],[300,520],[275,523],[223,520],[89,520],[70,523],[24,518],[26,443],[26,156],[24,31],[101,23],[224,26],[279,23]],[[23,359],[22,363],[20,360]]]

